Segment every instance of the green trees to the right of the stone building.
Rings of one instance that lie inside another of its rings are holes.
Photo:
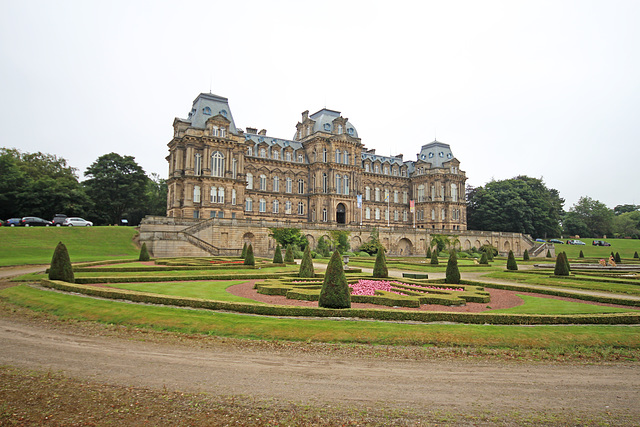
[[[542,179],[517,176],[467,186],[467,228],[530,234],[534,238],[561,236],[640,238],[640,205],[613,209],[583,196],[568,211],[558,190]]]

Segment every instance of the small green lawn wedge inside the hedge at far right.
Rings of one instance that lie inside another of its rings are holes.
[[[531,295],[518,295],[524,300],[524,304],[505,308],[501,310],[491,310],[492,313],[509,314],[594,314],[594,313],[626,313],[632,308],[607,307],[588,303],[562,301],[553,298],[541,298]]]

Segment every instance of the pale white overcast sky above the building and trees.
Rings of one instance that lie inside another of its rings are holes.
[[[640,204],[640,1],[0,0],[0,146],[167,176],[200,92],[291,138],[327,107],[367,148],[451,145],[467,183]]]

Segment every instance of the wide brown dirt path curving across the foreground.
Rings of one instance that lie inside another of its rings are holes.
[[[145,388],[454,412],[640,417],[637,364],[402,360],[83,336],[0,318],[0,364]]]

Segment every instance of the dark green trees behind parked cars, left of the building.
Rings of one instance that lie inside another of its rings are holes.
[[[0,177],[2,219],[66,214],[109,225],[166,215],[166,180],[147,176],[131,156],[100,156],[80,181],[78,170],[62,157],[0,148]]]

